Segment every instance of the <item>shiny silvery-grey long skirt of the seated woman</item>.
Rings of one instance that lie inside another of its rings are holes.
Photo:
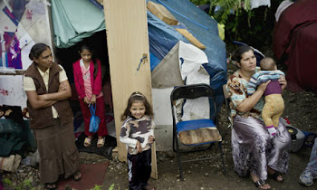
[[[266,180],[267,166],[280,173],[287,172],[291,136],[281,122],[270,139],[263,121],[236,115],[231,141],[235,172],[239,176],[253,172]]]

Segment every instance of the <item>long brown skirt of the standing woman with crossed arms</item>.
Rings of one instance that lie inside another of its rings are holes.
[[[41,158],[40,176],[43,184],[56,182],[60,175],[67,178],[79,170],[80,157],[72,122],[62,126],[60,119],[54,119],[52,126],[34,129],[34,136]]]

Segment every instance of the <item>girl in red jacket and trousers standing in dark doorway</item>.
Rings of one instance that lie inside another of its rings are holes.
[[[97,147],[103,147],[105,138],[108,135],[105,122],[105,106],[103,102],[102,85],[101,85],[101,62],[94,59],[89,46],[82,45],[79,50],[81,59],[72,64],[73,77],[76,90],[79,96],[82,117],[85,125],[85,138],[83,145],[91,146],[93,133],[89,132],[89,124],[91,119],[90,106],[96,104],[96,116],[101,119],[99,129],[97,131],[98,141]]]

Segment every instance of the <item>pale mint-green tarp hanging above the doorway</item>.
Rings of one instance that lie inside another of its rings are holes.
[[[52,20],[58,48],[71,47],[106,28],[103,12],[88,0],[52,1]]]

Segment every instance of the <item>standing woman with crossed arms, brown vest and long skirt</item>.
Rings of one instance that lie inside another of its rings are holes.
[[[62,66],[53,62],[48,45],[36,43],[29,58],[33,63],[24,72],[24,90],[41,158],[41,182],[45,189],[57,189],[60,175],[76,181],[82,178],[67,100],[72,91]]]

